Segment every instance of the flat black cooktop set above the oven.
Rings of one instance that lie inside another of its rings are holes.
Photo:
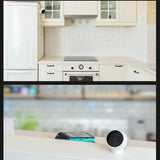
[[[98,61],[94,56],[66,56],[64,61]]]

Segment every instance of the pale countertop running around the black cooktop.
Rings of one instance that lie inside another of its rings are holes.
[[[142,70],[145,70],[146,72],[156,75],[156,72],[150,70],[156,69],[155,64],[149,64],[149,63],[144,63],[142,61],[136,60],[134,58],[130,57],[96,57],[98,61],[84,61],[84,64],[130,64],[134,65],[135,67],[139,67]],[[39,60],[39,64],[46,64],[46,63],[54,63],[54,64],[77,64],[77,63],[82,63],[82,61],[64,61],[64,57],[43,57],[42,59]]]

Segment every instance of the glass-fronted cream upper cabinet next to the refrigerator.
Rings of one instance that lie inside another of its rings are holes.
[[[41,1],[43,26],[64,26],[63,1]]]

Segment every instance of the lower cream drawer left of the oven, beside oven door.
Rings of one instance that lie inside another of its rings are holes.
[[[39,81],[62,81],[62,72],[40,71]]]

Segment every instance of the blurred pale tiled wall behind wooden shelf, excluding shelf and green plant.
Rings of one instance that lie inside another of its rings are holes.
[[[64,94],[67,91],[80,93],[81,86],[48,85],[40,86],[39,90],[43,93],[56,94]],[[126,92],[127,90],[136,94],[147,94],[155,92],[156,88],[153,85],[85,86],[86,93]],[[86,131],[95,136],[105,136],[107,129],[116,128],[125,131],[133,139],[146,139],[148,133],[156,133],[155,100],[5,98],[4,115],[14,117],[16,128],[19,128],[20,118],[17,117],[17,112],[21,115],[21,119],[28,114],[35,114],[38,117],[36,130],[40,131]],[[143,132],[141,136],[140,131]]]

